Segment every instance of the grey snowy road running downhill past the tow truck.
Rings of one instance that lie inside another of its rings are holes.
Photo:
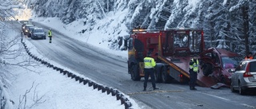
[[[36,25],[49,29],[44,25]],[[51,44],[48,38],[46,40],[28,38],[27,40],[48,59],[100,84],[117,88],[138,100],[138,105],[142,105],[142,108],[256,108],[256,95],[238,95],[238,93],[231,93],[229,88],[213,90],[198,87],[198,91],[190,91],[187,84],[157,84],[160,88],[158,91],[142,91],[143,79],[130,80],[126,60],[66,37],[56,30],[53,30]],[[150,87],[151,84],[149,83],[148,86]]]

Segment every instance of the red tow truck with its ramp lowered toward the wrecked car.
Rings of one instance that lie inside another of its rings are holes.
[[[202,87],[210,87],[218,82],[211,76],[218,68],[215,68],[216,66],[213,65],[215,63],[210,58],[204,57],[211,50],[204,48],[202,29],[133,29],[128,43],[128,73],[132,80],[138,81],[144,77],[143,58],[146,53],[150,52],[157,63],[154,68],[157,82],[170,83],[171,80],[181,83],[188,82],[190,80],[189,61],[194,55],[198,55],[202,64],[197,84]],[[229,55],[226,56],[229,57]],[[218,69],[216,74],[218,71],[222,70]]]

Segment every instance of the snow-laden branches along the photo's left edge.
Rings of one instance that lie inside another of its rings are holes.
[[[6,92],[6,83],[8,83],[6,80],[6,76],[8,76],[8,73],[6,74],[6,71],[4,68],[2,68],[5,64],[8,64],[6,61],[6,57],[9,55],[17,56],[19,55],[16,53],[17,49],[11,49],[13,45],[17,44],[18,39],[14,38],[11,39],[6,35],[6,29],[8,29],[6,22],[9,19],[14,19],[14,8],[20,8],[16,2],[13,0],[0,0],[0,108],[11,108],[11,100],[9,99],[9,95]]]

